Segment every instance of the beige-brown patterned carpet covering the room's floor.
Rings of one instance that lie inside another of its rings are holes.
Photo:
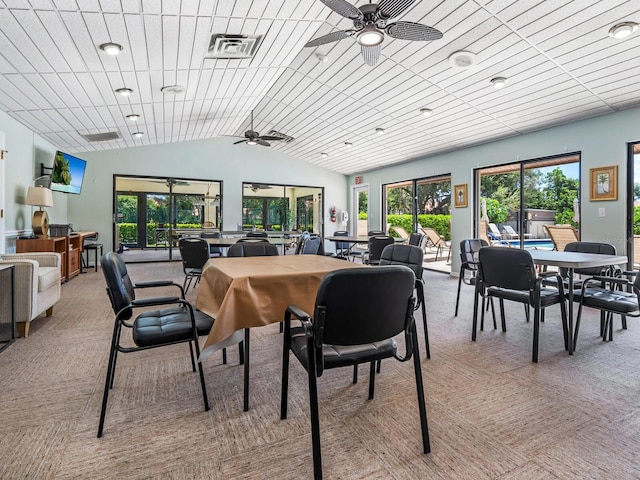
[[[134,281],[174,278],[179,263],[129,265]],[[508,332],[471,337],[472,289],[453,317],[457,280],[426,272],[431,360],[422,358],[432,453],[423,455],[410,362],[386,361],[367,400],[367,368],[320,379],[327,479],[640,478],[640,338],[633,319],[613,342],[589,312],[573,357],[557,308],[532,364],[531,324],[507,308]],[[195,292],[189,298],[195,299]],[[289,418],[279,419],[281,335],[252,331],[251,410],[242,367],[204,363],[204,412],[188,348],[120,355],[104,437],[96,438],[113,313],[102,272],[62,287],[50,318],[0,354],[2,479],[312,478],[306,377],[292,362]],[[424,352],[422,345],[421,352]]]

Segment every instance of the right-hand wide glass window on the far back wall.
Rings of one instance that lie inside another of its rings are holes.
[[[323,234],[322,188],[242,185],[242,230],[309,231]]]

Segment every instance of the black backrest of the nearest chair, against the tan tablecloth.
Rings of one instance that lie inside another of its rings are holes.
[[[393,265],[336,270],[316,297],[316,347],[361,345],[394,337],[413,320],[415,275]]]

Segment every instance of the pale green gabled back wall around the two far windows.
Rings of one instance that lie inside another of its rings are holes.
[[[347,177],[261,146],[233,145],[229,138],[75,153],[87,161],[82,193],[68,195],[74,228],[98,231],[109,248],[113,175],[153,175],[223,181],[223,229],[242,220],[242,182],[325,188],[325,229],[332,232],[328,208],[347,205]]]

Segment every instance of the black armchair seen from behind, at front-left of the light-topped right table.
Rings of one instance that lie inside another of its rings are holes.
[[[547,288],[542,280],[556,276],[558,288]],[[543,272],[536,275],[536,268],[527,250],[519,248],[483,247],[478,252],[478,275],[476,295],[473,304],[473,330],[471,340],[476,341],[478,325],[478,300],[483,296],[482,315],[484,316],[484,297],[498,298],[500,301],[500,318],[502,331],[506,332],[504,301],[519,302],[526,307],[533,307],[533,349],[532,361],[538,362],[538,340],[540,336],[541,312],[546,307],[560,304],[562,330],[565,349],[569,348],[567,329],[567,310],[564,287],[560,275],[556,272]],[[482,329],[482,327],[481,327]]]

